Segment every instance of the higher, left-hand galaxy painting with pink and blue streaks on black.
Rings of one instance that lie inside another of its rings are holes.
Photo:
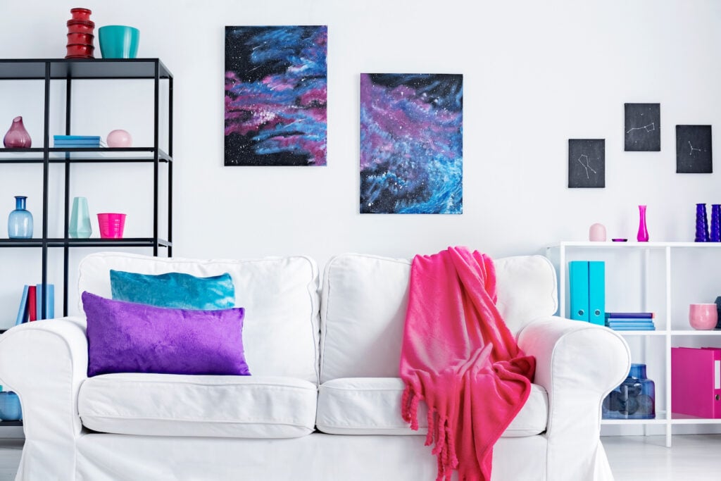
[[[226,27],[225,164],[325,165],[327,26]]]

